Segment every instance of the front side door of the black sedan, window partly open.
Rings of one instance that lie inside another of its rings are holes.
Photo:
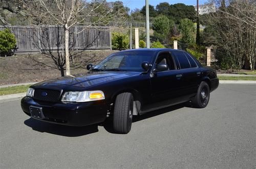
[[[182,77],[173,57],[169,52],[162,52],[158,55],[153,69],[157,64],[166,64],[168,70],[151,73],[151,102],[143,109],[154,110],[179,102],[177,99]]]

